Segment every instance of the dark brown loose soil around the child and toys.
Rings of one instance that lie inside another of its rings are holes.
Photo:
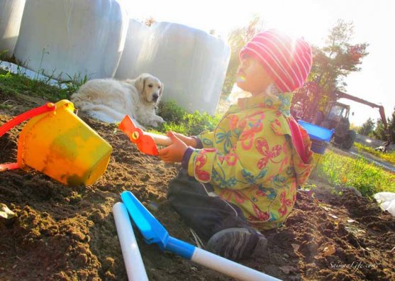
[[[0,124],[43,104],[4,97]],[[0,172],[0,203],[16,213],[0,219],[0,280],[127,280],[112,206],[129,190],[167,228],[196,244],[187,224],[166,201],[180,169],[143,155],[115,126],[79,116],[113,147],[105,174],[90,186],[68,187],[35,170]],[[17,126],[0,137],[0,163],[15,162]],[[299,191],[281,228],[265,231],[268,252],[241,260],[282,280],[395,280],[395,219],[352,190],[333,193],[326,182]],[[147,245],[135,231],[150,280],[232,280]]]

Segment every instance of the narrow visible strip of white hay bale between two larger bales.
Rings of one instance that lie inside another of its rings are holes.
[[[140,21],[130,18],[125,48],[116,70],[116,79],[134,79],[140,73],[136,70],[136,63],[140,55],[145,38],[150,35],[150,28]]]

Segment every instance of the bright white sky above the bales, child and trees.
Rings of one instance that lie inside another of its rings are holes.
[[[204,31],[215,30],[227,40],[234,28],[246,26],[253,14],[259,15],[264,28],[303,35],[314,45],[322,46],[328,31],[338,18],[354,23],[351,43],[369,43],[369,55],[362,70],[345,79],[346,92],[384,105],[386,116],[395,106],[395,1],[392,0],[123,0],[130,17],[143,21],[152,16],[156,21],[182,23]],[[350,121],[360,126],[369,117],[379,118],[379,110],[349,100]]]

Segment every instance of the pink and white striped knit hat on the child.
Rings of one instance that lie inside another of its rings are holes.
[[[245,55],[259,60],[282,92],[301,87],[311,70],[310,45],[274,29],[257,33],[240,51],[240,60]]]

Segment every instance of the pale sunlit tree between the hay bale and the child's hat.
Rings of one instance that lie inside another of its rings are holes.
[[[226,72],[225,82],[223,84],[222,92],[226,96],[230,94],[233,85],[236,82],[236,72],[240,65],[239,53],[241,48],[249,42],[256,33],[262,30],[263,23],[259,16],[254,16],[248,26],[237,28],[230,32],[228,37],[228,44],[230,46],[230,60],[228,71]]]

